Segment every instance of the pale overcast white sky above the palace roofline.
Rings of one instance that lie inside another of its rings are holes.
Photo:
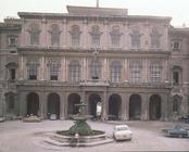
[[[0,21],[17,12],[66,13],[66,5],[96,7],[97,0],[0,0]],[[189,0],[99,0],[101,8],[128,9],[130,15],[171,16],[172,25],[189,26]]]

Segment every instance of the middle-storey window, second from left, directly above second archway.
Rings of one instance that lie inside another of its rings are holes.
[[[49,66],[50,80],[58,80],[59,79],[59,71],[61,67],[60,62],[51,60],[51,61],[49,61],[48,66]]]

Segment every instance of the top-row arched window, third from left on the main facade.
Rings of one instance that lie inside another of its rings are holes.
[[[79,47],[80,45],[80,29],[79,26],[74,25],[72,26],[72,30],[70,31],[72,35],[72,46],[73,47]]]

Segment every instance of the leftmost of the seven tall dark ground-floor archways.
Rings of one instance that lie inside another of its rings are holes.
[[[39,112],[39,96],[32,92],[27,96],[27,114],[38,115]]]

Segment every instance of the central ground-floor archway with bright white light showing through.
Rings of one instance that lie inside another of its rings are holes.
[[[99,94],[93,93],[90,94],[89,97],[89,114],[92,115],[93,117],[101,117],[101,111],[98,112],[99,106],[102,105],[101,103],[101,98]],[[98,107],[98,109],[97,109]],[[102,110],[102,107],[101,107]]]

